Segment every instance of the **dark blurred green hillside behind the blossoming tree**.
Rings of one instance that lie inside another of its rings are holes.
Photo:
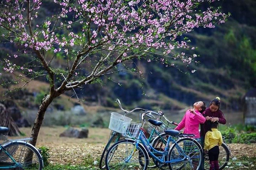
[[[87,85],[76,90],[76,94],[87,105],[111,107],[115,99],[120,98],[127,106],[153,109],[182,109],[195,101],[210,102],[219,96],[223,109],[241,110],[242,97],[256,86],[256,1],[222,0],[217,5],[231,13],[226,23],[184,35],[197,46],[199,64],[189,65],[189,69],[177,64],[180,70],[134,60],[136,67],[143,71],[142,75],[120,72],[110,79],[102,77],[101,83]],[[54,12],[51,9],[49,5],[44,10]],[[1,60],[15,51],[15,47],[4,43],[0,44],[0,49]],[[31,60],[31,64],[33,62]],[[65,61],[59,59],[53,64],[61,66]],[[192,69],[196,72],[191,73]],[[10,77],[2,75],[2,83],[6,79]],[[45,78],[38,80],[47,81]],[[44,90],[38,88],[35,98],[42,94]],[[74,96],[74,92],[66,95]]]

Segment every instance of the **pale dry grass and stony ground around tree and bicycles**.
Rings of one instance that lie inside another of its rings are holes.
[[[108,128],[88,128],[89,136],[84,139],[59,137],[67,128],[63,126],[42,126],[37,140],[37,147],[46,146],[50,153],[49,170],[71,170],[75,166],[84,166],[82,170],[98,169],[98,162],[108,141]],[[31,128],[20,128],[29,137]],[[19,137],[9,137],[17,139]],[[225,169],[240,170],[256,165],[256,144],[228,144],[231,150],[230,163]],[[241,166],[242,165],[242,166]],[[61,166],[61,168],[59,167]],[[46,170],[48,170],[46,168]]]

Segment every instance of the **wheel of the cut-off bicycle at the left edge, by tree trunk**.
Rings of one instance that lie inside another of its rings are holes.
[[[21,170],[42,170],[44,166],[40,152],[30,143],[25,141],[10,141],[3,145],[14,159],[5,155],[4,162],[17,165],[16,169]]]

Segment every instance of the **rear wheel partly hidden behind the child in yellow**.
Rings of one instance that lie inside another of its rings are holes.
[[[230,157],[229,148],[225,143],[222,143],[222,145],[219,146],[219,158],[218,158],[219,170],[222,170],[223,168],[225,168],[225,166],[229,162],[229,157]],[[209,168],[210,168],[209,157],[207,155],[204,157],[204,169],[208,170]]]

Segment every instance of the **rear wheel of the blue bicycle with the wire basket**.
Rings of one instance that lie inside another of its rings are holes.
[[[168,160],[178,162],[169,163],[169,168],[171,170],[199,170],[203,159],[201,145],[195,139],[188,137],[179,139],[176,143],[169,150]]]

